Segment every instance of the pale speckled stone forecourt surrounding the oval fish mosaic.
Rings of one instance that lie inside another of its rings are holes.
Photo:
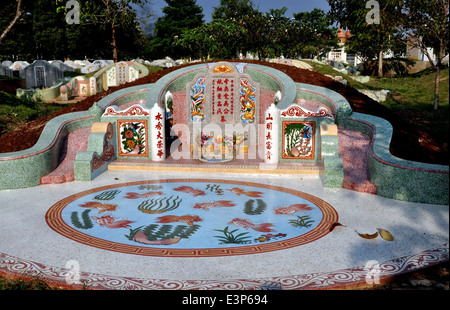
[[[320,289],[365,283],[367,276],[373,276],[374,269],[367,267],[373,262],[379,263],[377,275],[384,277],[448,260],[448,206],[327,189],[314,175],[220,176],[295,189],[333,206],[345,226],[286,250],[229,257],[148,257],[75,242],[46,224],[47,210],[70,195],[110,184],[180,177],[215,179],[205,173],[107,171],[92,183],[2,191],[0,235],[7,242],[0,243],[0,270],[40,273],[41,278],[64,283],[76,265],[80,279],[94,289],[255,289],[264,285]],[[358,235],[373,234],[377,228],[388,230],[394,240]]]

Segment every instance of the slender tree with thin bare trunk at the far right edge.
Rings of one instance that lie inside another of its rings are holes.
[[[449,1],[423,0],[420,2],[405,0],[403,16],[399,28],[404,33],[404,42],[419,48],[427,57],[436,73],[434,87],[434,110],[439,108],[439,83],[442,59],[448,55],[449,43]],[[436,61],[430,54],[431,47]]]

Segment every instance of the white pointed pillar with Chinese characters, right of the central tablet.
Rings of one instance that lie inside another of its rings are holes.
[[[264,162],[277,164],[279,162],[279,124],[280,110],[272,104],[264,115]]]

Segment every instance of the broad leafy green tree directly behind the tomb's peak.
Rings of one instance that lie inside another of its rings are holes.
[[[226,59],[250,52],[266,59],[311,57],[337,43],[336,31],[323,11],[299,13],[295,19],[286,12],[282,8],[263,13],[251,1],[222,0],[211,22],[185,29],[176,44],[188,57]]]

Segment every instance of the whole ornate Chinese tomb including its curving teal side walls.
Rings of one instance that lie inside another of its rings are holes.
[[[102,70],[99,74],[109,68]],[[105,79],[93,78],[89,87],[103,91]],[[393,130],[387,121],[353,113],[348,101],[330,89],[296,83],[268,66],[239,62],[182,67],[155,83],[112,92],[88,111],[52,119],[35,146],[0,154],[0,189],[37,186],[43,177],[56,173],[64,139],[84,128],[90,130],[82,130],[86,136],[78,138],[88,140],[87,149],[77,151],[72,163],[77,181],[90,181],[106,170],[172,171],[186,176],[192,172],[242,173],[243,177],[320,174],[325,187],[342,188],[341,156],[346,159],[348,178],[348,162],[357,165],[361,149],[344,141],[347,151],[341,154],[338,125],[341,138],[342,126],[370,138],[363,155],[367,168],[355,169],[367,173],[367,182],[373,183],[378,195],[448,204],[448,195],[442,194],[448,192],[448,166],[391,155]],[[64,170],[69,166],[65,160]]]

